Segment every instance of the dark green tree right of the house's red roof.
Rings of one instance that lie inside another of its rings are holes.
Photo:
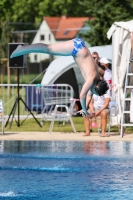
[[[90,31],[84,35],[91,46],[107,45],[111,41],[107,39],[107,31],[116,21],[131,20],[133,12],[132,0],[84,0],[86,13],[94,16],[95,20],[88,21]]]

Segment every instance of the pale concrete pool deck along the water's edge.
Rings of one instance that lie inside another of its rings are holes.
[[[133,141],[133,134],[127,133],[121,137],[118,132],[111,132],[110,137],[100,137],[93,132],[91,136],[83,136],[83,133],[53,132],[5,132],[0,134],[0,140],[69,140],[69,141]]]

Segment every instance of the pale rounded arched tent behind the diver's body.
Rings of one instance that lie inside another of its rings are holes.
[[[110,61],[112,60],[112,46],[111,45],[90,47],[89,50],[91,53],[94,51],[98,52],[100,57],[107,57]],[[42,79],[41,84],[52,84],[64,72],[75,67],[77,67],[77,64],[75,63],[72,56],[66,56],[66,57],[61,56],[50,63]],[[79,73],[80,73],[79,70],[76,69],[75,75],[77,77],[77,81],[79,81],[79,77],[80,77],[80,84],[83,84],[84,80],[81,77],[81,74],[79,75]]]

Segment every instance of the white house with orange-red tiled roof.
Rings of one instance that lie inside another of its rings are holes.
[[[79,33],[88,31],[89,27],[86,26],[86,22],[93,19],[93,17],[43,17],[32,44],[53,44],[78,37]],[[30,62],[40,62],[49,59],[50,55],[32,53],[29,57]]]

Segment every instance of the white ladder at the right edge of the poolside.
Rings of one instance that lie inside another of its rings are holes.
[[[126,103],[129,102],[131,104],[131,97],[130,98],[127,97],[127,90],[133,89],[133,85],[129,85],[129,78],[131,78],[131,76],[133,77],[133,73],[130,72],[131,68],[133,69],[133,59],[130,59],[130,63],[128,65],[127,72],[126,72],[124,99],[123,99],[123,112],[122,112],[122,118],[121,118],[121,137],[124,136],[125,127],[133,126],[133,123],[130,123],[130,122],[126,123],[125,122],[125,115],[130,114],[130,108],[129,108],[129,110],[127,110]],[[131,93],[131,91],[130,91],[130,93]]]

